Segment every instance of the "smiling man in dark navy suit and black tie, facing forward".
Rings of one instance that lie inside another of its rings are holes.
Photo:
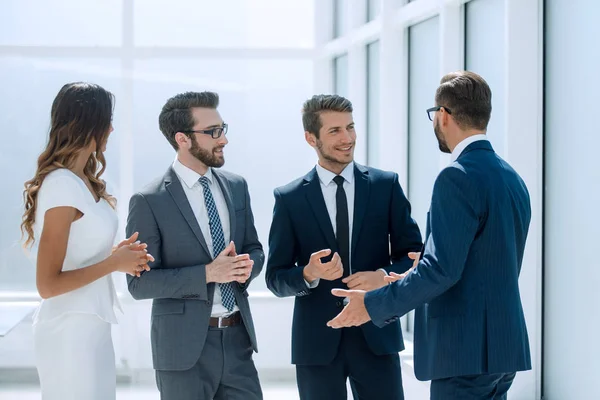
[[[398,175],[353,162],[352,104],[336,95],[306,101],[306,141],[319,161],[306,176],[275,189],[266,281],[295,296],[292,363],[302,400],[403,399],[400,323],[333,330],[342,310],[333,288],[373,290],[403,273],[422,246]],[[377,382],[377,383],[376,383]]]

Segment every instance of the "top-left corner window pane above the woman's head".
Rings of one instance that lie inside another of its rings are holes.
[[[122,0],[4,0],[2,46],[119,46]]]

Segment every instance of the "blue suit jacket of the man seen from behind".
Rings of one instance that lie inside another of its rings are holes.
[[[525,183],[486,140],[439,174],[417,268],[365,296],[377,326],[416,308],[418,379],[531,369],[518,282],[530,219]]]

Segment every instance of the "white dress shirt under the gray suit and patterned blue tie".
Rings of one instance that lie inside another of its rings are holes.
[[[210,255],[214,260],[218,254],[214,254],[213,252],[212,236],[210,234],[210,226],[208,225],[208,212],[206,211],[206,203],[204,202],[204,189],[202,187],[202,184],[198,182],[198,179],[200,179],[202,175],[186,167],[181,162],[179,162],[178,159],[175,159],[175,162],[173,163],[173,169],[175,170],[175,173],[181,181],[183,191],[185,192],[188,202],[192,207],[194,216],[198,221],[198,225],[200,225],[202,236],[204,236],[204,240],[206,241],[206,245],[208,246]],[[225,201],[225,196],[221,191],[219,183],[215,180],[211,168],[208,169],[204,176],[208,178],[208,186],[210,187],[210,191],[213,195],[213,199],[217,206],[217,211],[219,212],[221,226],[223,227],[223,237],[225,239],[225,245],[227,246],[229,244],[231,236],[231,227],[229,224],[229,210],[227,209],[227,202]],[[219,289],[219,285],[215,284],[215,294],[213,297],[211,316],[226,316],[238,310],[239,308],[236,305],[231,312],[227,311],[227,309],[223,306],[223,302],[221,300],[221,290]]]

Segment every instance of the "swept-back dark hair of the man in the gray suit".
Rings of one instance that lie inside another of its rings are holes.
[[[219,106],[219,95],[213,92],[185,92],[171,97],[163,106],[158,117],[158,126],[171,146],[179,150],[175,141],[177,132],[189,131],[194,127],[192,108],[212,108]]]

